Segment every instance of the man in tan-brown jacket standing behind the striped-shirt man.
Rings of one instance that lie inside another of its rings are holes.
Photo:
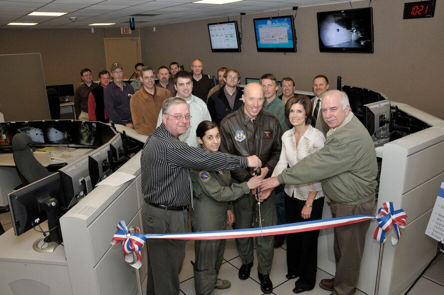
[[[149,66],[142,67],[139,80],[143,86],[129,101],[134,129],[144,135],[151,134],[155,129],[155,114],[162,109],[163,100],[171,97],[169,90],[154,85],[154,79],[154,70]]]

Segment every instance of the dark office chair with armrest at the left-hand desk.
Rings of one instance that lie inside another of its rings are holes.
[[[46,168],[35,158],[28,146],[32,139],[28,134],[17,133],[12,137],[12,153],[22,185],[27,185],[55,172],[67,163],[49,164]],[[47,170],[46,170],[47,169]]]

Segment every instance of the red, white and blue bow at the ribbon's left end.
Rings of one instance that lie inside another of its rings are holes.
[[[122,245],[123,256],[125,261],[130,263],[134,268],[140,268],[142,265],[140,250],[145,243],[146,237],[140,234],[140,229],[136,226],[135,233],[130,234],[126,227],[125,221],[120,220],[116,226],[117,231],[111,239],[111,245],[120,242]],[[136,260],[134,261],[132,252],[135,252]]]

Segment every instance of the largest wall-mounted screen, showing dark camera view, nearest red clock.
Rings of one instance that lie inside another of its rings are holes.
[[[373,53],[372,7],[317,12],[320,52]]]

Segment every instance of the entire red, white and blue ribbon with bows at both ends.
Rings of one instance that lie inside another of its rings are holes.
[[[204,240],[204,239],[227,239],[227,238],[239,238],[239,237],[253,237],[253,236],[266,236],[275,234],[285,234],[294,232],[303,232],[310,230],[325,229],[336,226],[343,226],[348,224],[353,224],[357,222],[362,222],[366,220],[376,219],[379,223],[376,231],[374,233],[374,238],[380,242],[385,241],[385,233],[388,232],[392,227],[395,230],[396,238],[392,237],[392,243],[396,244],[401,233],[400,228],[405,226],[405,218],[407,215],[404,210],[393,210],[393,203],[386,202],[383,207],[378,210],[378,215],[353,215],[344,217],[335,217],[311,221],[303,221],[297,223],[289,223],[282,225],[272,225],[265,226],[262,228],[242,228],[233,230],[215,230],[215,231],[201,231],[201,232],[186,232],[186,233],[148,233],[140,234],[136,233],[130,235],[126,228],[125,222],[121,220],[117,225],[117,231],[111,240],[111,244],[115,244],[117,241],[122,242],[122,249],[125,255],[125,260],[127,262],[132,261],[131,249],[137,251],[138,260],[136,263],[132,264],[133,267],[140,267],[140,249],[146,238],[167,238],[167,239],[182,239],[182,240]],[[137,228],[138,230],[138,228]],[[138,231],[139,232],[139,231]],[[127,260],[128,255],[130,260]],[[137,265],[137,266],[135,266]]]

